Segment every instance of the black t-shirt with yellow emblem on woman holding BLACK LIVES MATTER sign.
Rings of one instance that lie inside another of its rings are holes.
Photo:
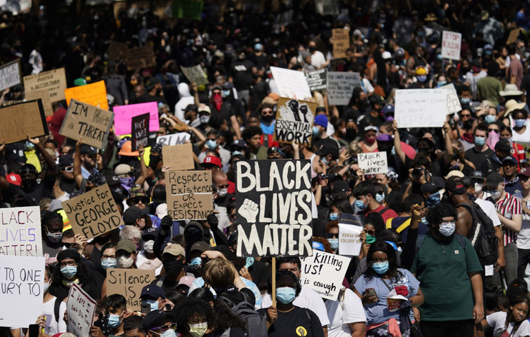
[[[267,309],[257,310],[262,316]],[[268,329],[269,337],[324,337],[318,316],[310,309],[295,306],[290,312],[278,312],[278,318]]]

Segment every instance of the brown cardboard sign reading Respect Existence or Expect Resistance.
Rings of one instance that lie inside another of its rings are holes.
[[[211,171],[166,171],[166,184],[173,220],[204,220],[213,210]]]

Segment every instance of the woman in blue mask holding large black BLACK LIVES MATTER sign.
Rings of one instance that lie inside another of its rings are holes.
[[[273,292],[272,276],[268,280],[268,294]],[[292,272],[280,270],[276,273],[276,306],[259,309],[266,316],[268,336],[324,337],[318,316],[310,309],[296,307],[293,301],[301,292],[301,285]]]

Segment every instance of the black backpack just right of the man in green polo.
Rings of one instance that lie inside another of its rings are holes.
[[[493,221],[484,213],[478,204],[459,204],[456,206],[464,207],[473,218],[473,226],[467,235],[471,245],[475,248],[478,260],[482,265],[492,265],[498,258],[498,237],[495,235],[495,226]]]

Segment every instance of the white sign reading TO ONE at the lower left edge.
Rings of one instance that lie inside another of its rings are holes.
[[[28,327],[42,314],[44,267],[43,257],[0,255],[0,327]]]

